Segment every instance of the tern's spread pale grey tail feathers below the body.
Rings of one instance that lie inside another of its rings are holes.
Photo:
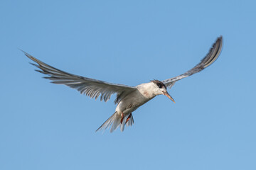
[[[129,115],[127,115],[123,122],[121,123],[121,119],[122,116],[117,114],[117,112],[115,112],[113,115],[110,116],[110,118],[108,118],[105,123],[103,123],[100,128],[98,128],[96,130],[96,132],[98,130],[106,130],[107,128],[110,128],[110,126],[112,125],[110,132],[113,132],[114,130],[116,130],[119,126],[121,131],[124,131],[124,125],[127,126],[132,126],[134,124],[134,119],[132,117],[132,113],[130,113]]]

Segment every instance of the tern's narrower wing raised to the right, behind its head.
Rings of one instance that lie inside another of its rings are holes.
[[[180,79],[183,79],[185,77],[189,77],[192,74],[195,74],[197,72],[201,72],[201,70],[205,69],[210,64],[213,64],[213,62],[215,62],[215,60],[220,55],[222,44],[223,44],[223,38],[222,38],[222,36],[220,36],[219,38],[217,38],[217,40],[215,41],[213,46],[210,48],[210,51],[208,52],[206,57],[204,57],[203,60],[201,60],[201,62],[199,64],[197,64],[195,67],[193,67],[192,69],[188,70],[188,72],[186,72],[184,74],[181,74],[181,75],[179,75],[177,77],[173,77],[171,79],[166,79],[166,80],[164,80],[162,82],[167,87],[171,88],[171,86],[173,86],[176,81],[178,81]]]

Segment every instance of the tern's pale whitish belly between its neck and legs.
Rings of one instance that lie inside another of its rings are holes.
[[[129,115],[135,111],[139,106],[142,106],[144,103],[149,101],[151,98],[146,98],[137,91],[134,94],[130,94],[122,99],[117,105],[116,111],[118,114],[124,113],[124,115]]]

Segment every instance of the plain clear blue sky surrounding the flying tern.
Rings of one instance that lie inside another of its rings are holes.
[[[0,1],[0,169],[256,169],[255,1]],[[134,112],[42,79],[18,48],[66,72],[136,86],[219,59]]]

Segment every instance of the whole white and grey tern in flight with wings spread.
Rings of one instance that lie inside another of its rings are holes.
[[[111,127],[110,132],[113,132],[119,126],[121,131],[124,130],[125,125],[132,126],[134,124],[132,112],[155,96],[165,95],[175,103],[174,98],[168,93],[167,88],[171,89],[176,81],[189,77],[197,72],[201,72],[201,70],[205,69],[210,64],[213,64],[220,55],[222,44],[223,38],[220,36],[212,45],[206,57],[204,57],[195,67],[188,70],[188,72],[164,81],[155,79],[149,81],[149,83],[139,84],[138,86],[112,84],[106,81],[70,74],[51,67],[26,52],[24,52],[24,54],[29,59],[33,60],[33,62],[36,62],[31,63],[38,68],[36,71],[48,75],[48,77],[43,78],[50,79],[53,84],[65,84],[73,89],[77,89],[81,94],[85,94],[90,98],[97,99],[100,96],[100,101],[104,100],[105,102],[110,99],[112,94],[117,94],[117,97],[114,100],[114,104],[117,104],[114,114],[112,114],[110,118],[96,130],[105,130],[106,128]]]

